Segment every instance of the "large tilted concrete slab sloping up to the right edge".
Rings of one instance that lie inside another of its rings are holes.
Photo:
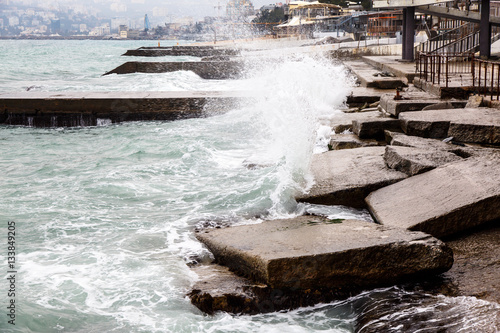
[[[387,226],[452,235],[500,218],[500,154],[470,157],[410,177],[366,198]]]

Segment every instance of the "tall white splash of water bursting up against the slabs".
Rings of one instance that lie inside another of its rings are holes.
[[[279,168],[281,179],[271,194],[270,212],[286,214],[295,209],[293,197],[313,183],[309,167],[317,139],[325,146],[325,132],[331,132],[322,128],[317,135],[319,117],[340,112],[353,81],[343,66],[307,55],[248,60],[247,67],[248,79],[241,87],[259,97],[243,109],[252,114],[254,130],[266,141],[252,162]]]

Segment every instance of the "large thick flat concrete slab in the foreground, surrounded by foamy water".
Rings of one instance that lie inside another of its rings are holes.
[[[392,284],[453,263],[451,250],[427,234],[358,220],[301,216],[196,237],[218,263],[272,288]]]

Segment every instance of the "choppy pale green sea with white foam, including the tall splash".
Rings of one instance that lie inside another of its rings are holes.
[[[259,315],[193,306],[191,267],[212,260],[197,228],[305,212],[370,222],[294,200],[328,149],[320,119],[341,112],[354,80],[340,63],[273,50],[239,80],[102,76],[130,60],[200,61],[121,56],[142,46],[157,41],[0,40],[0,93],[256,92],[198,119],[1,125],[0,332],[498,332],[496,303],[399,285]]]

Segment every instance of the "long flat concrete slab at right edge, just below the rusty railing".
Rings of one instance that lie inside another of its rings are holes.
[[[406,112],[399,116],[408,135],[453,137],[455,141],[500,144],[500,110],[491,108]]]

